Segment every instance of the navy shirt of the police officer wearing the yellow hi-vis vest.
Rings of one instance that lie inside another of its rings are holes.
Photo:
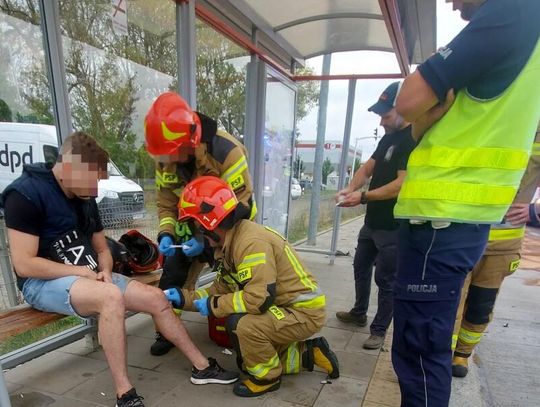
[[[519,75],[539,35],[540,1],[487,0],[418,70],[441,102],[450,89],[463,88],[474,98],[492,99]]]

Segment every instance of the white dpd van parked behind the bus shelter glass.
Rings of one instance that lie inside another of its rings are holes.
[[[54,162],[58,155],[56,128],[46,124],[0,122],[0,192],[24,164]],[[100,180],[96,202],[104,226],[129,226],[145,214],[142,188],[126,178],[112,161],[109,179]]]

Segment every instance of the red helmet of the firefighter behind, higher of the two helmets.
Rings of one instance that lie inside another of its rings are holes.
[[[201,142],[201,120],[177,93],[165,92],[152,103],[144,119],[146,149],[152,155],[174,154]]]

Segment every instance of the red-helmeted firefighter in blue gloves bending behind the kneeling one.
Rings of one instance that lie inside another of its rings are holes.
[[[252,198],[252,182],[246,150],[233,136],[218,130],[217,122],[195,112],[173,92],[160,95],[144,122],[146,149],[156,161],[159,251],[165,256],[159,288],[195,286],[207,262],[213,261],[211,248],[193,233],[188,222],[177,222],[177,204],[182,189],[201,175],[226,181],[253,219],[257,209]],[[181,244],[182,249],[172,247]],[[152,355],[164,355],[173,344],[156,332]]]

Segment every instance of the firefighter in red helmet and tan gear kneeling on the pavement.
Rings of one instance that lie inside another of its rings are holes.
[[[239,366],[249,377],[234,387],[240,397],[277,390],[282,374],[312,371],[339,377],[336,355],[323,337],[325,296],[280,234],[243,219],[230,186],[216,177],[190,182],[179,204],[215,247],[217,277],[208,289],[181,290],[179,302],[203,316],[227,318]]]

